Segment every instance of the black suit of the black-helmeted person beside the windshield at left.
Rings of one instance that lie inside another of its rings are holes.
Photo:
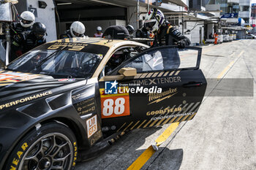
[[[37,36],[34,35],[33,31],[23,31],[15,35],[11,46],[10,61],[15,60],[15,58],[18,58],[20,55],[27,53],[29,50],[42,45],[45,42],[45,36],[38,39]]]

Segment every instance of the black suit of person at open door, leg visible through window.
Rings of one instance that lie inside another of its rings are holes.
[[[177,28],[167,23],[165,26],[161,26],[155,34],[155,39],[152,47],[158,47],[162,45],[178,45],[179,48],[184,48],[190,45],[190,40],[181,34]],[[181,59],[178,55],[177,49],[162,50],[162,59],[165,69],[178,69],[181,64]]]

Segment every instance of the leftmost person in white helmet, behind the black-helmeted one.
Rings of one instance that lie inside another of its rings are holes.
[[[24,11],[20,15],[20,21],[12,23],[11,26],[11,35],[17,35],[23,31],[31,31],[34,24],[34,14],[30,11]]]

